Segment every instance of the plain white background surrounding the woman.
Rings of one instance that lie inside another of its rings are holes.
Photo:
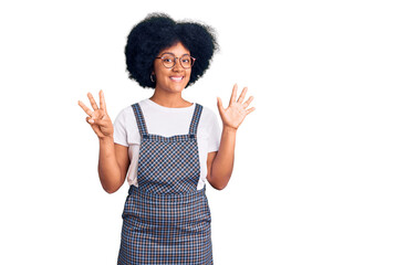
[[[416,264],[413,1],[8,2],[0,264],[116,263],[128,187],[101,188],[77,100],[103,89],[114,120],[152,95],[124,45],[154,11],[217,30],[186,99],[218,114],[233,83],[254,96],[231,181],[207,191],[216,264]]]

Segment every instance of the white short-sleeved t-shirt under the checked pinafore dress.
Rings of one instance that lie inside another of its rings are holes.
[[[148,134],[170,137],[187,135],[193,119],[195,104],[184,108],[168,108],[156,104],[149,98],[138,103],[145,118]],[[128,147],[131,165],[127,171],[128,184],[137,186],[137,165],[141,149],[141,132],[132,106],[117,115],[114,120],[114,142]],[[215,113],[202,108],[198,128],[197,142],[199,152],[200,177],[197,189],[204,188],[207,180],[208,152],[218,151],[220,128]]]

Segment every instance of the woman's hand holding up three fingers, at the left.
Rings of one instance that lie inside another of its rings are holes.
[[[94,132],[97,135],[100,139],[110,137],[113,138],[113,123],[107,114],[103,91],[100,91],[100,108],[96,105],[93,95],[89,93],[87,96],[94,112],[91,110],[87,106],[85,106],[85,104],[83,104],[81,100],[79,100],[80,107],[84,109],[84,112],[89,115],[86,117],[86,123],[91,125],[91,128],[93,128]]]

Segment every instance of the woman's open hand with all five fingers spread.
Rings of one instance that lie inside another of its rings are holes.
[[[241,125],[246,116],[254,110],[253,107],[246,109],[253,99],[250,96],[247,102],[242,103],[246,97],[247,87],[245,87],[237,100],[237,84],[232,87],[230,104],[227,108],[223,108],[221,98],[217,97],[218,110],[222,119],[222,127],[232,128],[235,130]]]

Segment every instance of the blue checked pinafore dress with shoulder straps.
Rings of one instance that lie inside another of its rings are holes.
[[[212,264],[210,211],[200,165],[195,104],[188,135],[147,132],[139,104],[132,105],[142,136],[138,188],[132,184],[123,210],[117,264]]]

